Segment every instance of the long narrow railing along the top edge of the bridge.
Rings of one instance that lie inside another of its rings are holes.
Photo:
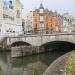
[[[55,35],[75,35],[74,32],[71,32],[71,33],[51,33],[51,34],[31,34],[31,35],[27,35],[27,34],[21,34],[21,35],[18,35],[18,36],[9,36],[9,37],[4,37],[1,39],[0,42],[2,42],[4,39],[6,38],[21,38],[21,37],[37,37],[37,36],[55,36]]]

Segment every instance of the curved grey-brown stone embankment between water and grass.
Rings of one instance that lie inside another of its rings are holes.
[[[63,56],[56,59],[48,67],[48,69],[44,72],[43,75],[67,75],[66,74],[66,69],[65,69],[65,64],[66,64],[66,61],[67,61],[67,58],[69,57],[69,55],[71,55],[74,52],[75,52],[75,50],[71,51],[69,53],[66,53]]]

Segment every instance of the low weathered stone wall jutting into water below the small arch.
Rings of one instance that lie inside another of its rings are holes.
[[[21,57],[44,52],[39,46],[16,46],[11,47],[11,57]]]

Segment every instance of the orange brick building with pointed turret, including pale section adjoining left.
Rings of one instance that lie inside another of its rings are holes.
[[[52,33],[62,32],[62,16],[56,11],[52,12],[40,4],[38,9],[26,14],[26,33]]]

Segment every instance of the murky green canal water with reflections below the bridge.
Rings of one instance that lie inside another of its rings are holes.
[[[49,52],[23,58],[11,58],[0,52],[0,75],[42,75],[48,66],[65,52]]]

